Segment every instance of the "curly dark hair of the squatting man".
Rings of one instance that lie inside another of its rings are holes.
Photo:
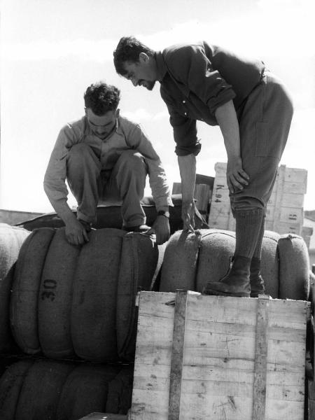
[[[120,101],[120,90],[104,82],[87,87],[84,94],[86,108],[92,109],[96,116],[104,116],[108,111],[116,111]]]

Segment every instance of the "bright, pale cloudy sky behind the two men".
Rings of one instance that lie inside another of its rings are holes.
[[[169,181],[179,181],[158,85],[135,88],[113,67],[120,37],[134,35],[156,50],[203,38],[267,63],[295,104],[281,164],[307,169],[304,209],[315,209],[314,12],[314,0],[3,0],[0,208],[52,211],[43,192],[50,152],[61,127],[83,116],[83,93],[98,80],[120,88],[120,112],[141,123]],[[214,164],[226,161],[223,139],[218,127],[198,127],[197,172],[214,176]]]

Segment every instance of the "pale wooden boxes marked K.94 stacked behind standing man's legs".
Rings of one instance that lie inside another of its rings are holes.
[[[214,191],[209,212],[209,227],[235,230],[230,210],[226,163],[217,162]],[[272,196],[267,203],[266,230],[302,234],[304,195],[307,190],[307,171],[281,165],[276,176]]]

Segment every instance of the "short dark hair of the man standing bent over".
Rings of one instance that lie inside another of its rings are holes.
[[[146,52],[149,57],[155,55],[155,51],[138,41],[134,36],[123,36],[123,38],[120,38],[117,48],[113,52],[113,61],[117,73],[125,76],[127,73],[124,68],[125,62],[139,62],[140,52]]]

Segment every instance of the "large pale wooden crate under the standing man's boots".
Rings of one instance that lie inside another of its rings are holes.
[[[307,309],[141,292],[130,419],[302,420]]]

